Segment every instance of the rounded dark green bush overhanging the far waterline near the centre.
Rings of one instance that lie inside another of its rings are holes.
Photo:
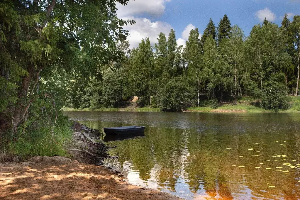
[[[182,111],[187,107],[187,87],[184,79],[171,79],[160,91],[161,111]]]

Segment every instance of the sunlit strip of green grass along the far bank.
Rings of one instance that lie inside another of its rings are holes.
[[[224,103],[217,109],[213,109],[210,106],[207,107],[189,107],[187,112],[272,112],[272,110],[265,110],[256,106],[257,99],[251,97],[243,97],[238,100],[237,105],[232,103]],[[288,110],[279,110],[281,113],[300,113],[300,97],[289,97],[291,108]],[[127,111],[127,112],[160,112],[159,108],[101,108],[92,110],[90,108],[74,109],[64,107],[64,111]]]

